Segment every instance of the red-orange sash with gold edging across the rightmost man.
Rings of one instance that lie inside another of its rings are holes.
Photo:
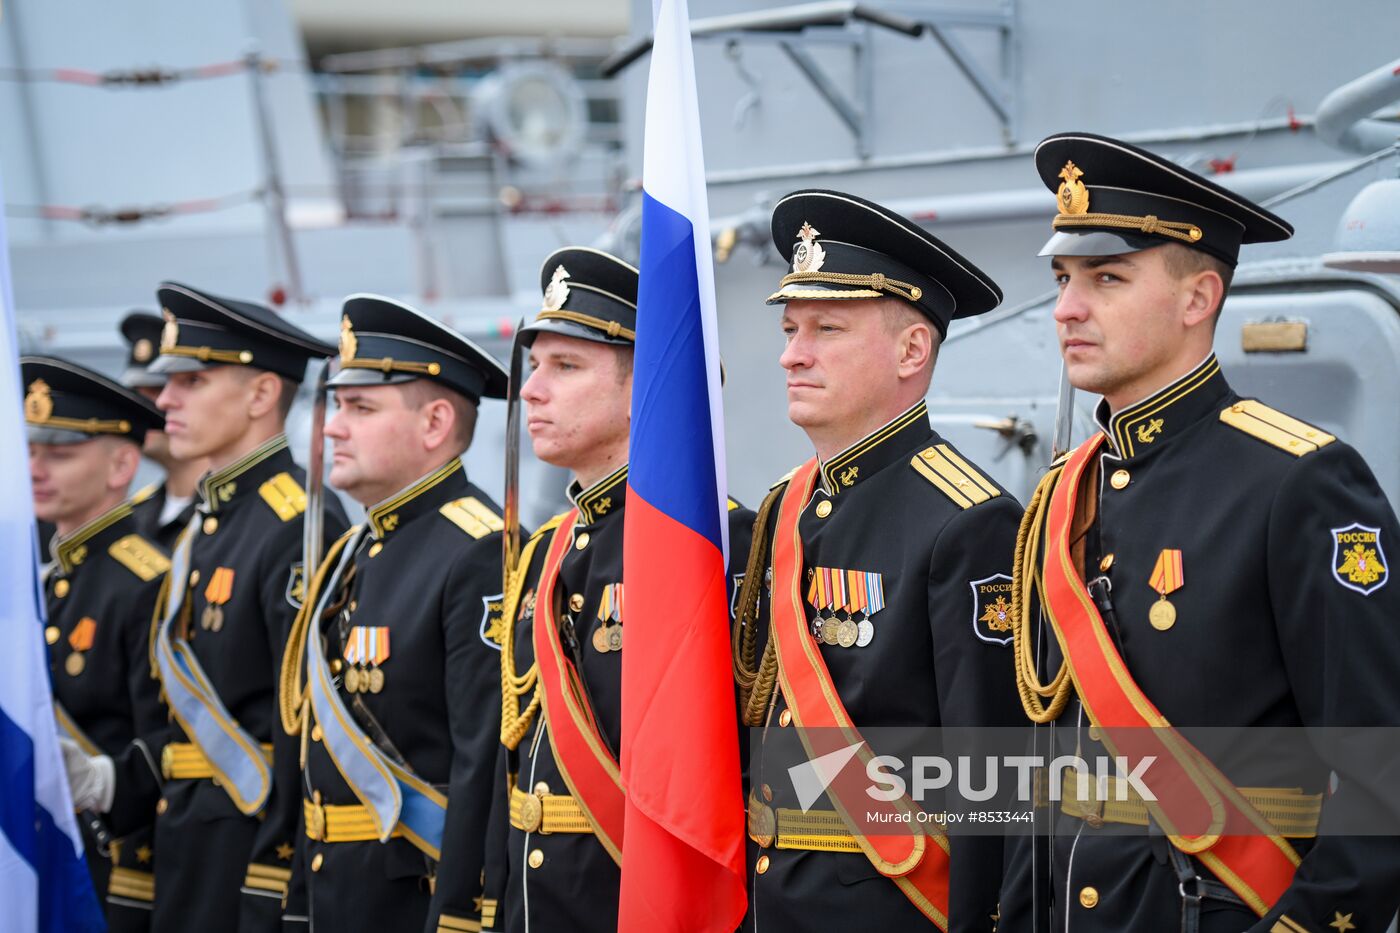
[[[1182,852],[1200,859],[1263,916],[1292,883],[1299,856],[1133,679],[1071,555],[1071,528],[1085,471],[1102,434],[1081,444],[1050,493],[1042,601],[1089,721],[1130,769],[1154,756],[1140,779],[1156,797],[1152,818]],[[1170,574],[1163,574],[1170,576]],[[1176,583],[1180,581],[1179,570]],[[1165,583],[1165,581],[1163,581]]]

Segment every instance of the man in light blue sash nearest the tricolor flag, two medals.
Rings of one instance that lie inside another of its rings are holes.
[[[304,881],[312,929],[480,929],[503,523],[462,457],[480,401],[504,398],[505,382],[490,354],[419,311],[346,300],[329,479],[367,514],[308,591],[283,693],[286,724],[307,730],[294,888]],[[378,756],[417,779],[399,814],[375,811],[365,768]]]

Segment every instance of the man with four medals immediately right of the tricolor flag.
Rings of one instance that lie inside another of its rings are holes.
[[[799,727],[1015,721],[1005,608],[1021,506],[934,431],[924,403],[949,321],[1001,291],[904,217],[840,192],[783,198],[773,242],[791,263],[769,298],[783,305],[788,417],[816,457],[760,509],[741,593],[741,710],[762,730],[745,929],[987,930],[998,838],[897,843],[843,820],[830,794],[808,810],[787,769],[802,761]]]

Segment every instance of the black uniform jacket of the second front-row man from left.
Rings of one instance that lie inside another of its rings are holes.
[[[281,926],[301,792],[298,747],[281,728],[276,692],[301,601],[304,482],[279,434],[199,485],[185,532],[195,535],[186,591],[169,598],[189,604],[189,644],[224,706],[255,741],[273,747],[273,785],[263,811],[245,817],[213,779],[153,773],[168,742],[189,741],[175,724],[118,761],[113,824],[150,820],[153,807],[157,814],[155,933]],[[339,503],[328,497],[326,537],[344,528]],[[211,586],[216,572],[224,587]],[[206,628],[211,590],[221,622]]]

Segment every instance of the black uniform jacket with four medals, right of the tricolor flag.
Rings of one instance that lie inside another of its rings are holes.
[[[804,595],[809,574],[825,567],[881,574],[885,598],[869,616],[867,644],[818,646],[857,728],[1016,723],[1011,653],[1002,643],[1009,632],[979,618],[995,595],[1008,595],[1019,520],[1016,500],[932,430],[923,402],[822,464],[798,523]],[[771,551],[766,558],[771,566]],[[767,630],[769,598],[760,601],[760,630]],[[806,608],[815,618],[818,607]],[[787,769],[805,755],[781,688],[767,709],[746,785],[774,810],[801,808]],[[832,811],[825,797],[813,807],[822,808]],[[935,807],[925,801],[924,808]],[[951,929],[988,930],[1001,841],[955,835],[949,842]],[[858,852],[760,848],[750,838],[748,873],[748,930],[932,929]]]

